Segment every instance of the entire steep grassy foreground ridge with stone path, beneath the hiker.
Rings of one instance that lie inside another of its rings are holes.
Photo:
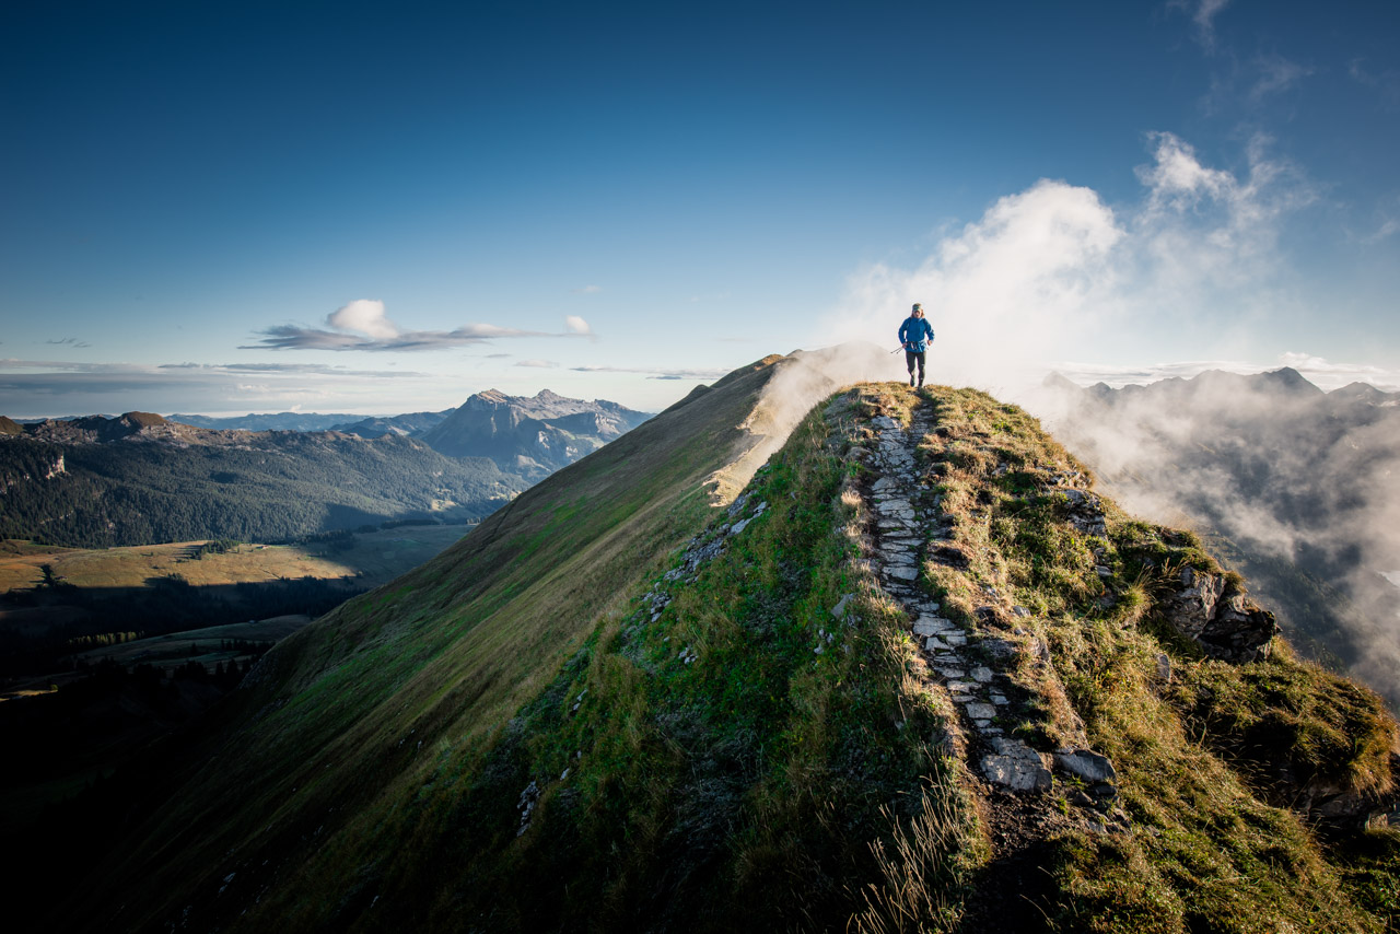
[[[1018,409],[858,386],[710,507],[797,365],[274,648],[60,924],[1394,927],[1379,699]]]

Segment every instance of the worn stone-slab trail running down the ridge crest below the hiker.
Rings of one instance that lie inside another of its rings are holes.
[[[918,587],[924,562],[955,571],[966,567],[956,522],[939,510],[930,463],[918,452],[925,438],[937,441],[932,406],[916,406],[909,428],[885,414],[871,419],[869,426],[876,431],[875,444],[858,454],[874,476],[862,490],[871,517],[865,552],[883,594],[911,620],[923,676],[955,710],[944,749],[960,759],[980,786],[994,849],[986,868],[991,884],[979,888],[995,891],[995,882],[1004,879],[1022,893],[1033,892],[1028,878],[1039,874],[1035,851],[1051,833],[1068,826],[1107,833],[1130,828],[1128,815],[1116,807],[1113,765],[1088,748],[1078,724],[1070,728],[1078,742],[1053,753],[1021,738],[1018,727],[1035,734],[1028,711],[1050,706],[1044,688],[1057,686],[1050,650],[1035,634],[1030,611],[981,587],[986,602],[977,608],[976,622],[955,622],[941,616],[939,604]],[[1081,521],[1102,524],[1102,514],[1093,514],[1092,494],[1074,492],[1081,493],[1072,497],[1084,513]],[[1053,793],[1056,774],[1061,779],[1058,791],[1067,790],[1068,809]],[[970,907],[976,914],[977,906]],[[1029,902],[1025,909],[1033,910]],[[988,920],[1001,923],[1015,916],[1005,905],[987,905],[986,910]]]

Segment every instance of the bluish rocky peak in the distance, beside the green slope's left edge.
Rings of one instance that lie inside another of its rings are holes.
[[[539,480],[648,417],[616,402],[566,399],[549,389],[533,398],[489,389],[421,437],[434,451],[491,458],[505,472]]]

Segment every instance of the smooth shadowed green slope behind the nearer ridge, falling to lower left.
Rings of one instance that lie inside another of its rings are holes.
[[[364,833],[412,800],[427,767],[420,745],[498,730],[700,528],[713,508],[706,478],[753,442],[739,426],[790,364],[767,357],[697,389],[434,562],[279,644],[239,692],[242,723],[225,751],[132,858],[101,874],[113,891],[141,879],[144,898],[115,923],[158,924],[172,910],[165,895],[230,849],[262,853],[281,874],[340,833]]]

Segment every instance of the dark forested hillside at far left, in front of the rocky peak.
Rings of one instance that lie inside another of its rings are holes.
[[[448,458],[402,437],[92,416],[0,435],[0,538],[277,542],[392,518],[479,518],[525,486],[486,458]]]

